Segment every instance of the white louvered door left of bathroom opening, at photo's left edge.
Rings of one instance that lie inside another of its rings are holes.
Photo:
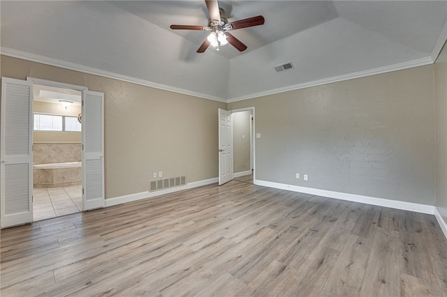
[[[1,228],[33,220],[32,85],[1,78]]]

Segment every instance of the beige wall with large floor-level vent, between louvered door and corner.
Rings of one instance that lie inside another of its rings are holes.
[[[153,172],[216,178],[217,109],[226,103],[1,56],[1,76],[27,76],[104,93],[105,198],[149,190]]]

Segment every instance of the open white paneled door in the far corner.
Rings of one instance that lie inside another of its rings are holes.
[[[233,116],[219,108],[219,185],[233,179]]]

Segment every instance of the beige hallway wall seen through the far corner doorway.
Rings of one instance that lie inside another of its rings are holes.
[[[251,112],[233,113],[233,171],[247,172],[250,168]],[[244,138],[242,137],[244,136]]]

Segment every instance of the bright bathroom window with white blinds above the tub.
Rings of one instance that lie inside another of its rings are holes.
[[[34,131],[81,131],[81,123],[76,116],[55,116],[34,114]]]

